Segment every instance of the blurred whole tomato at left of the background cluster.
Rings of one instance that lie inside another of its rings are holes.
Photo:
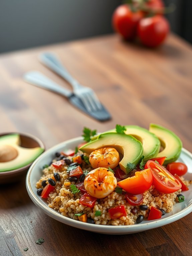
[[[142,17],[141,11],[132,12],[127,4],[120,5],[112,17],[114,30],[125,39],[132,40],[136,36],[137,24]]]

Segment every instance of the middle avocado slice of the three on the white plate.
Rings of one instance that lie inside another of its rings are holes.
[[[161,143],[155,134],[137,125],[126,125],[125,128],[126,134],[132,135],[143,144],[144,161],[147,161],[157,156],[160,150]],[[109,130],[105,133],[108,132],[116,132],[116,129]]]

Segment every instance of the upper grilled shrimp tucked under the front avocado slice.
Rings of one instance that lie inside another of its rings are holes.
[[[119,153],[115,148],[100,148],[89,155],[89,162],[93,168],[115,168],[119,161]]]

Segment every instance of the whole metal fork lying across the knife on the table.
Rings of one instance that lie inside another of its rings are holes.
[[[60,75],[73,87],[74,95],[81,99],[87,111],[90,112],[102,109],[102,104],[94,91],[89,87],[82,86],[75,80],[63,67],[55,54],[44,52],[40,54],[39,59],[45,66]]]

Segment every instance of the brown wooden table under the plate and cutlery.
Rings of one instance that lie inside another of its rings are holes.
[[[53,51],[82,84],[94,89],[113,119],[100,123],[66,99],[26,84],[23,73],[39,70],[70,88],[38,61]],[[158,49],[126,43],[118,36],[61,43],[0,56],[0,132],[28,132],[46,148],[80,136],[84,126],[99,132],[118,124],[172,129],[191,150],[192,50],[171,35]],[[35,241],[43,237],[42,245]],[[30,200],[25,177],[0,185],[0,255],[192,255],[192,214],[146,232],[109,236],[61,224]],[[28,251],[23,251],[28,247]]]

